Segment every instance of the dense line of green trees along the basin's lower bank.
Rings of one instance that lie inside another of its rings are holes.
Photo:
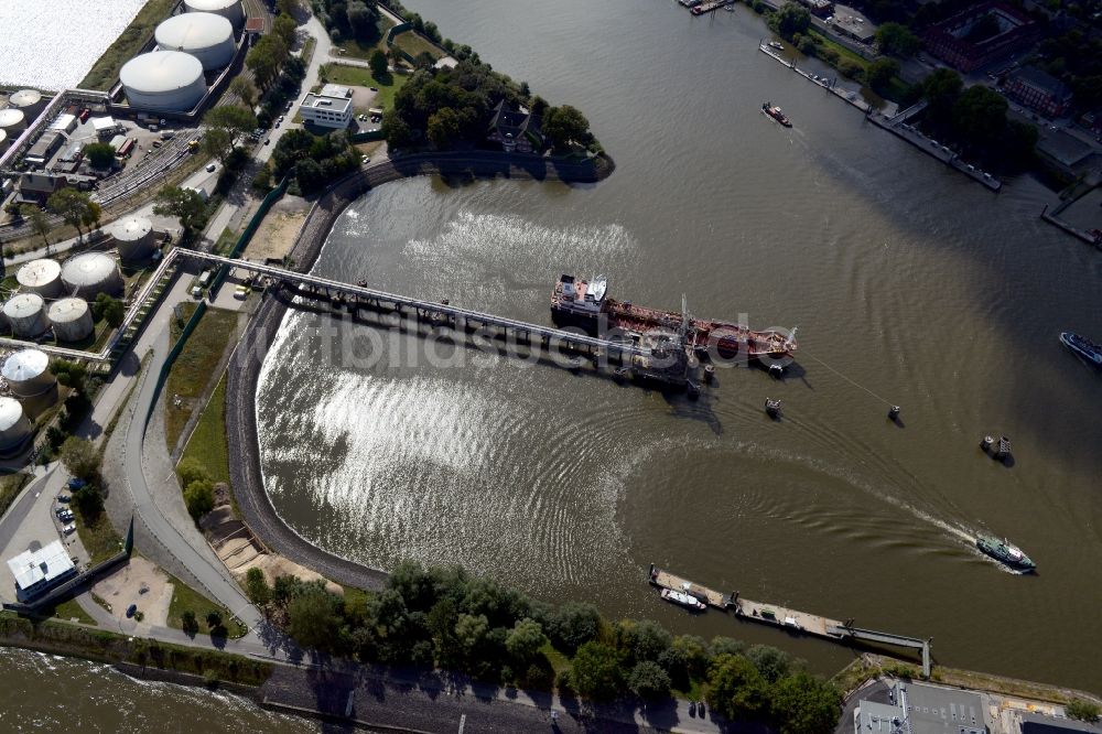
[[[733,721],[786,734],[831,732],[841,698],[773,647],[730,637],[671,635],[655,622],[605,619],[595,606],[536,601],[458,566],[403,563],[378,594],[326,591],[324,582],[253,569],[249,598],[301,645],[363,662],[461,671],[499,684],[588,700],[667,699],[702,686]],[[552,659],[569,659],[557,674]]]

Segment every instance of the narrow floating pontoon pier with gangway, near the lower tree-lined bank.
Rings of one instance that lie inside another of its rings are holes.
[[[922,656],[922,676],[930,677],[930,669],[933,666],[930,657],[932,638],[920,639],[875,629],[862,629],[853,626],[853,619],[840,622],[818,614],[790,609],[779,604],[752,602],[748,598],[743,598],[737,591],[725,594],[670,573],[653,563],[650,564],[650,584],[659,589],[689,594],[721,612],[734,614],[739,619],[780,627],[793,635],[808,635],[842,644],[861,641],[918,650]]]

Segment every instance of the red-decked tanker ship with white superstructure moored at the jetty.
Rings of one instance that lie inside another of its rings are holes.
[[[595,336],[619,331],[626,335],[668,334],[680,337],[687,353],[704,355],[714,346],[720,356],[765,360],[785,366],[796,352],[796,330],[791,334],[754,331],[714,319],[696,319],[682,305],[680,313],[635,305],[607,296],[603,276],[582,280],[562,276],[551,294],[551,317],[559,325],[574,325]]]

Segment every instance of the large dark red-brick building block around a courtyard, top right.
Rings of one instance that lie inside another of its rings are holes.
[[[1030,46],[1040,26],[1001,2],[984,2],[937,23],[925,33],[926,48],[962,72],[991,64]]]

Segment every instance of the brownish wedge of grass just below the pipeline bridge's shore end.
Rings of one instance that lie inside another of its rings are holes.
[[[181,310],[184,323],[191,319],[195,307],[194,303],[188,303]],[[174,337],[180,333],[180,328],[182,326],[174,321]],[[184,345],[183,352],[173,363],[169,379],[165,380],[164,385],[164,433],[165,443],[170,451],[176,446],[192,411],[199,407],[197,401],[203,397],[203,391],[214,375],[218,360],[222,359],[226,344],[229,343],[236,330],[236,313],[220,309],[207,309],[198,326],[192,332]],[[175,401],[176,397],[180,398],[179,407]]]

